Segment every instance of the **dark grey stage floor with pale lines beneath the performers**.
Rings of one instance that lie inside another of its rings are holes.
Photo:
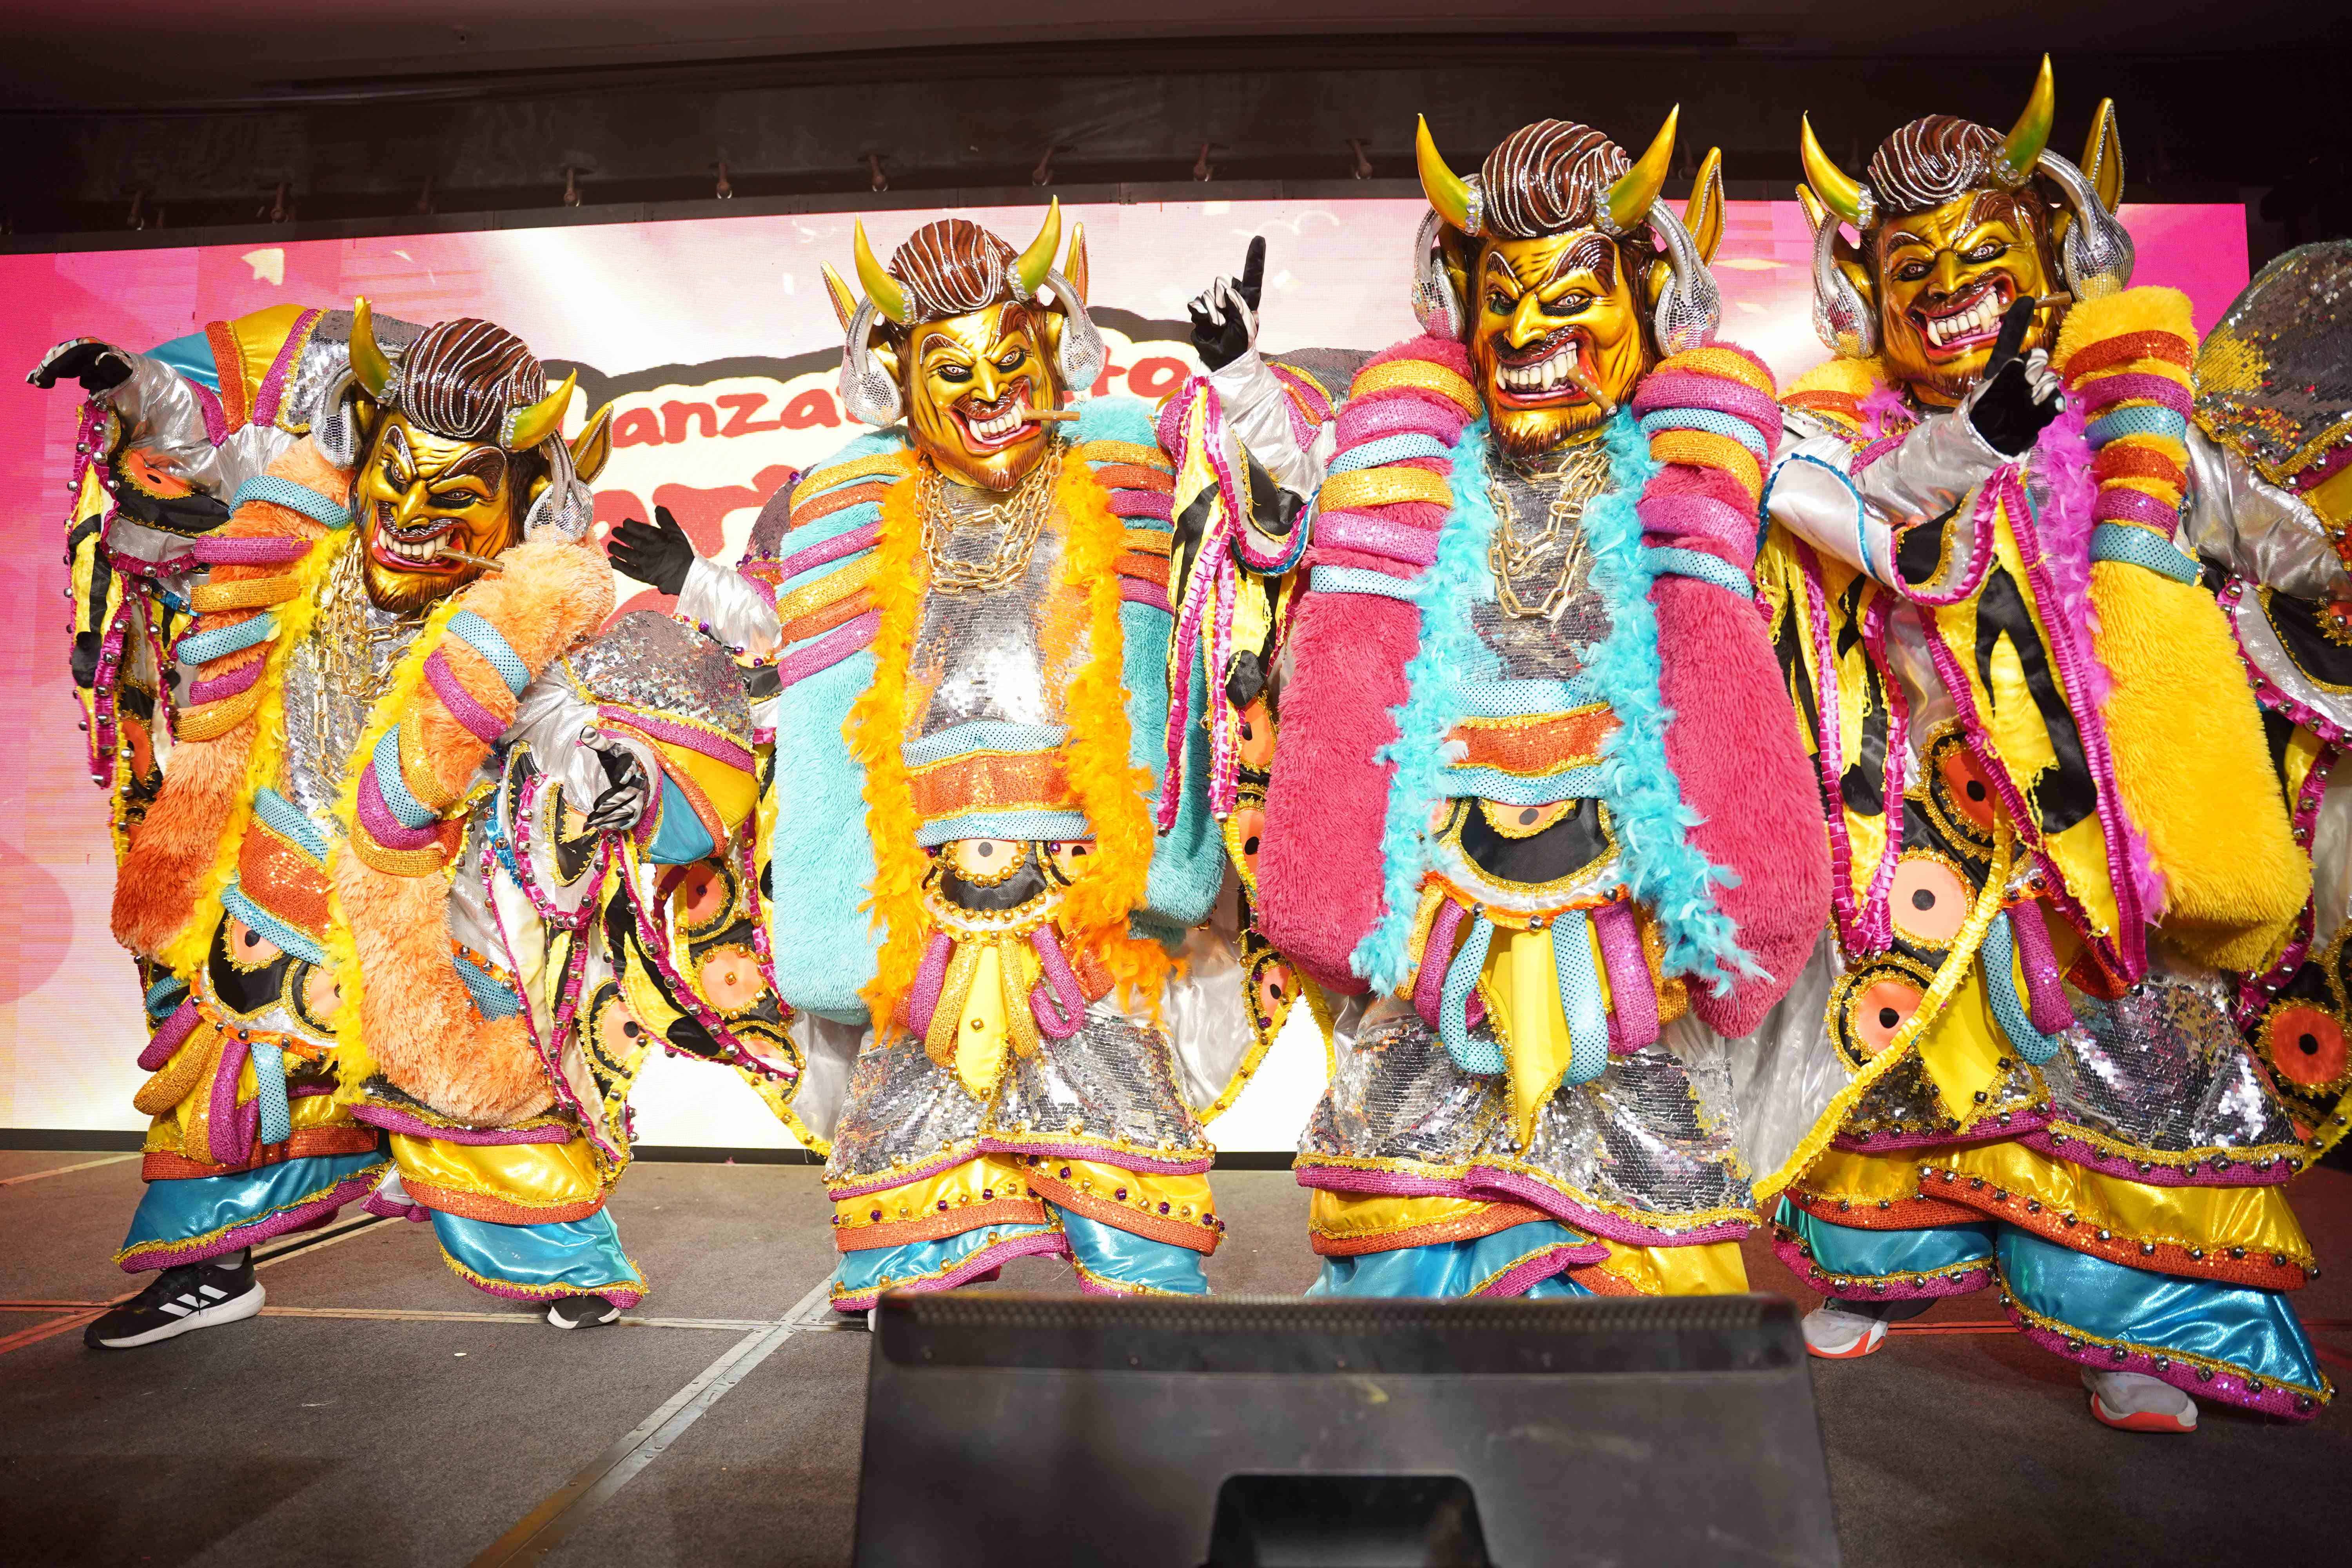
[[[1216,1187],[1214,1288],[1305,1288],[1289,1173]],[[426,1227],[348,1211],[261,1251],[259,1321],[87,1352],[89,1309],[143,1284],[108,1262],[136,1197],[132,1154],[0,1152],[7,1561],[847,1563],[868,1340],[823,1312],[814,1168],[635,1166],[614,1213],[654,1293],[621,1328],[557,1333],[459,1284]],[[2331,1265],[2298,1305],[2352,1382],[2352,1171],[2314,1171],[2296,1199]],[[1748,1267],[1811,1305],[1757,1241]],[[1075,1288],[1042,1258],[1004,1286]],[[1813,1363],[1846,1563],[2340,1549],[2352,1408],[2107,1432],[2074,1368],[1997,1316],[1962,1298],[1867,1361]]]

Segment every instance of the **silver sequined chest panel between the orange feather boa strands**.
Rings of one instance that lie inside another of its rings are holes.
[[[981,508],[967,484],[943,484],[955,508]],[[948,534],[948,552],[962,562],[985,562],[1004,536],[1004,522],[976,515]],[[1040,625],[1054,574],[1061,569],[1061,536],[1049,524],[1030,550],[1028,571],[995,592],[931,592],[922,602],[922,625],[908,656],[908,682],[931,698],[908,731],[908,741],[936,736],[955,724],[997,719],[1004,724],[1061,724],[1061,686],[1044,668]],[[1073,665],[1084,661],[1080,632]]]

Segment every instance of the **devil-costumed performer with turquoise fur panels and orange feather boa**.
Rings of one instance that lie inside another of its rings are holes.
[[[837,1107],[793,1100],[830,1140],[842,1312],[1018,1255],[1197,1293],[1221,1237],[1200,1072],[1160,1023],[1225,875],[1211,736],[1169,724],[1183,496],[1145,404],[1058,414],[1103,357],[1084,242],[1068,273],[1058,244],[1058,207],[1021,254],[941,221],[882,268],[861,228],[863,296],[828,282],[844,407],[884,428],[800,480],[743,571],[616,541],[774,663],[767,957],[811,1079],[854,1051]]]

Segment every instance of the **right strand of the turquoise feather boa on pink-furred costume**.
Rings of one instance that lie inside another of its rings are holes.
[[[1764,971],[1738,945],[1731,917],[1715,907],[1712,884],[1729,886],[1733,872],[1708,865],[1684,837],[1682,830],[1698,818],[1682,804],[1682,785],[1665,762],[1665,724],[1675,715],[1658,696],[1658,611],[1649,602],[1656,578],[1635,505],[1658,463],[1649,456],[1649,437],[1623,409],[1609,421],[1606,442],[1618,482],[1583,517],[1592,585],[1609,607],[1611,628],[1585,661],[1585,677],[1618,719],[1602,743],[1602,773],[1609,778],[1602,799],[1618,835],[1625,886],[1658,919],[1665,973],[1729,990],[1731,973],[1759,978]]]

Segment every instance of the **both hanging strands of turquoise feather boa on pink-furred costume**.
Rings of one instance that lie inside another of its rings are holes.
[[[1592,585],[1609,609],[1611,632],[1588,651],[1573,686],[1581,701],[1609,703],[1618,719],[1602,748],[1597,795],[1618,835],[1625,886],[1658,919],[1665,973],[1722,987],[1731,973],[1762,971],[1740,950],[1731,919],[1715,905],[1712,884],[1729,884],[1731,872],[1710,865],[1684,837],[1693,818],[1665,762],[1665,726],[1672,715],[1658,696],[1658,614],[1649,602],[1653,569],[1637,510],[1658,463],[1628,409],[1611,418],[1604,440],[1611,489],[1585,508],[1583,529],[1592,548]],[[1489,425],[1479,418],[1463,428],[1454,447],[1454,510],[1437,536],[1437,559],[1414,581],[1421,651],[1404,665],[1411,696],[1390,712],[1397,738],[1381,748],[1381,759],[1395,764],[1381,832],[1383,910],[1355,945],[1348,966],[1383,992],[1411,976],[1414,917],[1430,865],[1428,818],[1449,795],[1446,736],[1468,715],[1468,693],[1503,684],[1494,679],[1494,661],[1470,630],[1472,599],[1494,595],[1486,550],[1496,515],[1486,498],[1486,451]]]

